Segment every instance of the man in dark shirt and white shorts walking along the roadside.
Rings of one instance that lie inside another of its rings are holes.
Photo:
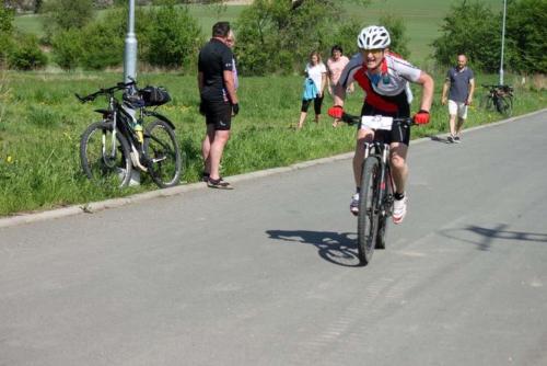
[[[447,91],[449,98],[446,99]],[[446,104],[446,100],[449,102],[449,144],[458,144],[461,140],[459,135],[464,122],[467,118],[467,107],[473,102],[474,92],[475,77],[473,75],[473,70],[467,67],[467,57],[465,55],[458,55],[457,65],[446,72],[446,81],[443,85],[443,93],[441,99],[443,105]]]

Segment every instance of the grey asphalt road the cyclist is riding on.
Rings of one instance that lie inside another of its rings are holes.
[[[0,365],[547,365],[546,123],[411,146],[366,267],[350,160],[2,228]]]

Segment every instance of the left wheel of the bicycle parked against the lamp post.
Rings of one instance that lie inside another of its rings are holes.
[[[129,144],[119,133],[114,141],[112,137],[112,122],[91,124],[80,139],[80,162],[91,181],[125,187],[131,180]]]

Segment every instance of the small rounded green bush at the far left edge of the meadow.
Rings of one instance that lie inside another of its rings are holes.
[[[8,55],[10,68],[19,70],[34,70],[47,65],[46,55],[38,47],[35,35],[18,35],[13,49]]]

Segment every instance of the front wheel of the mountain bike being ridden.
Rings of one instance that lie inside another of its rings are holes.
[[[379,227],[380,160],[369,157],[364,160],[359,196],[357,224],[357,249],[361,264],[372,260]]]

